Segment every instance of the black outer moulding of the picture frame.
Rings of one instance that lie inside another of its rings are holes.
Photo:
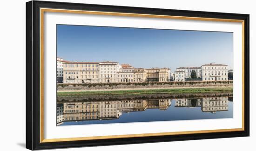
[[[110,138],[40,143],[40,8],[73,9],[117,13],[141,13],[216,19],[244,20],[244,131],[212,132],[135,138]],[[124,145],[180,140],[249,136],[249,14],[170,10],[128,6],[106,6],[66,2],[26,3],[26,148],[30,150],[67,147]]]

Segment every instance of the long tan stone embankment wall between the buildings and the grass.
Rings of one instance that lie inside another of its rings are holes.
[[[233,81],[186,81],[186,82],[128,82],[128,83],[58,83],[57,91],[144,89],[144,88],[196,88],[232,87]]]

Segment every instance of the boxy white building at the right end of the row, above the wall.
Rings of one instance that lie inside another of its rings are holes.
[[[201,66],[202,81],[225,81],[228,80],[228,65],[204,64]]]

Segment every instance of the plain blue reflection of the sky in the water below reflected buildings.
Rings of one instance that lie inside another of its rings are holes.
[[[202,112],[201,107],[175,107],[175,100],[172,99],[171,106],[166,110],[159,108],[146,109],[145,111],[122,112],[119,119],[113,120],[81,120],[67,121],[61,126],[83,125],[83,124],[105,124],[105,123],[126,123],[126,122],[149,122],[167,120],[199,120],[199,119],[221,119],[233,118],[233,102],[228,101],[228,111],[216,111],[216,113]]]

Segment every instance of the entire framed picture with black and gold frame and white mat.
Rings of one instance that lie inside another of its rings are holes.
[[[30,150],[249,136],[249,14],[29,1]]]

